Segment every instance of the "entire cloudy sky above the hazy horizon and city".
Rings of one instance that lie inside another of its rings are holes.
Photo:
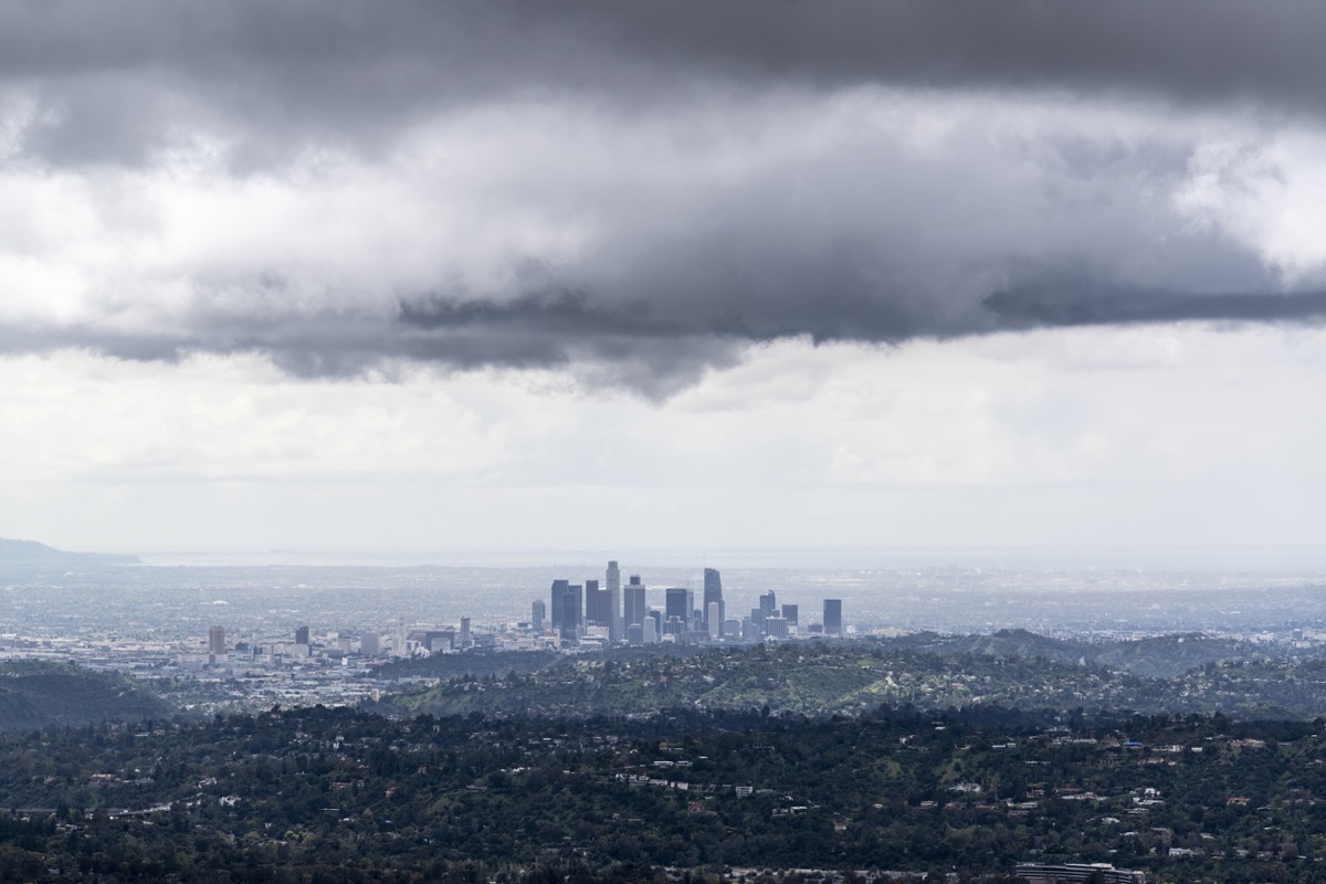
[[[1322,33],[0,0],[0,537],[1326,565]]]

